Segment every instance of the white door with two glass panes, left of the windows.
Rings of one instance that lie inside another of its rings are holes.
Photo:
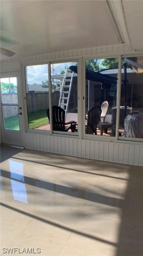
[[[19,73],[0,78],[2,142],[23,146],[24,113]]]

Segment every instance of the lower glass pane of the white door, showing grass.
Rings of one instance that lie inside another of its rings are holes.
[[[19,115],[17,106],[2,106],[5,129],[19,131]]]

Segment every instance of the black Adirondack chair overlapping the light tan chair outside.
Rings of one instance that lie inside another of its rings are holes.
[[[101,116],[101,108],[99,105],[93,106],[87,113],[87,125],[85,133],[97,135],[97,125]]]

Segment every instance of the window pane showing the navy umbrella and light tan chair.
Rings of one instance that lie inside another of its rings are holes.
[[[118,58],[86,60],[85,133],[115,136]]]

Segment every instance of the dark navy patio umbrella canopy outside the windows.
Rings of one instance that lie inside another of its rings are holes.
[[[69,69],[77,73],[77,66],[70,66]],[[109,89],[111,85],[117,84],[118,80],[118,78],[101,74],[99,71],[91,71],[89,69],[86,69],[86,79],[90,81],[101,82],[102,86],[106,89]]]

